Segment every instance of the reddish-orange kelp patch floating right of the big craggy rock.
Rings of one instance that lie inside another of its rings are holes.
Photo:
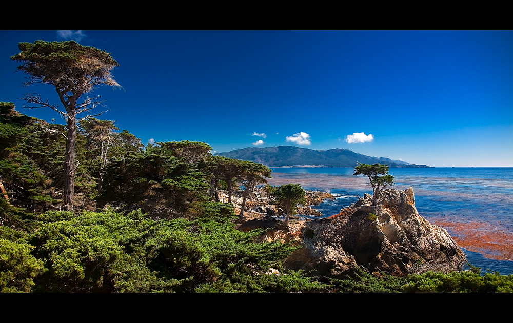
[[[479,252],[485,258],[496,260],[513,259],[513,238],[510,232],[504,232],[500,226],[485,222],[453,222],[446,219],[433,220],[433,224],[455,234],[459,247]]]

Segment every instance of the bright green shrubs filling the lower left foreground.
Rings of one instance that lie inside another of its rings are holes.
[[[2,254],[11,259],[11,265],[0,269],[0,286],[7,291],[37,292],[286,292],[325,288],[302,273],[255,276],[254,271],[280,268],[281,261],[298,247],[255,243],[262,230],[235,230],[230,222],[234,218],[231,205],[208,202],[199,213],[193,221],[154,221],[140,211],[122,215],[107,210],[80,216],[47,212],[38,217],[41,225],[30,237],[0,230],[4,233],[0,241],[10,248],[2,249]],[[12,277],[23,284],[14,284]]]

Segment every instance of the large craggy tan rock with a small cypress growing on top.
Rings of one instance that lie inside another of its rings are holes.
[[[419,215],[412,188],[387,189],[377,206],[371,204],[365,194],[337,215],[306,222],[304,248],[287,259],[286,267],[338,277],[358,268],[394,275],[449,272],[466,263],[447,231]]]

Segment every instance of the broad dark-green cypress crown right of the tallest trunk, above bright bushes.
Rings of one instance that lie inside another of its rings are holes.
[[[98,199],[124,210],[141,208],[152,217],[176,217],[208,199],[206,175],[167,148],[150,144],[146,151],[114,162],[106,172]]]

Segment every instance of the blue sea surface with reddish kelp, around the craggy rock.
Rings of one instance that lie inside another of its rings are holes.
[[[271,185],[301,184],[336,195],[336,200],[313,207],[325,217],[372,194],[368,178],[353,176],[352,168],[271,169]],[[419,214],[445,228],[470,264],[483,273],[513,273],[513,168],[390,168],[389,174],[394,176],[392,187],[413,188]]]

